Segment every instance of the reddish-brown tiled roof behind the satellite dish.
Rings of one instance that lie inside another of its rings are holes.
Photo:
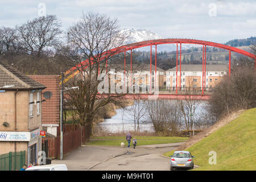
[[[42,124],[59,124],[60,121],[60,76],[59,75],[28,75],[32,79],[46,85],[44,92],[52,92],[51,98],[42,103]]]

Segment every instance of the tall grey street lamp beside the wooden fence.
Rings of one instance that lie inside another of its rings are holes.
[[[63,159],[63,92],[70,89],[77,89],[79,86],[64,89],[63,86],[64,74],[61,73],[61,90],[60,90],[60,159]]]

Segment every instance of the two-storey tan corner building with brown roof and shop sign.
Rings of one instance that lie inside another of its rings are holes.
[[[0,63],[0,154],[26,151],[38,162],[42,130],[42,90],[46,86]]]

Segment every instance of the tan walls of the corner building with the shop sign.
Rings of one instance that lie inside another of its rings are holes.
[[[15,91],[0,92],[0,131],[28,131],[41,130],[41,114],[37,114],[37,107],[33,104],[33,117],[29,115],[29,94],[33,94],[33,101],[37,101],[37,91],[18,91],[16,92],[16,130],[15,130]],[[39,91],[39,100],[42,100],[42,92]],[[40,102],[40,112],[42,111],[42,102]],[[3,122],[8,122],[9,126],[3,126]],[[37,135],[37,151],[40,150],[40,138]],[[28,144],[30,142],[18,141],[0,141],[0,154],[6,154],[10,151],[26,151],[26,161],[28,159]]]

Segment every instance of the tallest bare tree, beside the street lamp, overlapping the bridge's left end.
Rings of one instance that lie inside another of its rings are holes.
[[[125,40],[119,31],[117,19],[96,13],[83,14],[79,22],[68,29],[68,42],[63,53],[73,60],[74,71],[81,76],[73,83],[79,89],[71,90],[69,97],[79,114],[80,124],[89,127],[90,132],[94,115],[101,107],[109,103],[122,105],[124,94],[98,94],[98,85],[102,82],[98,75],[106,71],[106,60],[119,51],[110,50],[121,46]]]

